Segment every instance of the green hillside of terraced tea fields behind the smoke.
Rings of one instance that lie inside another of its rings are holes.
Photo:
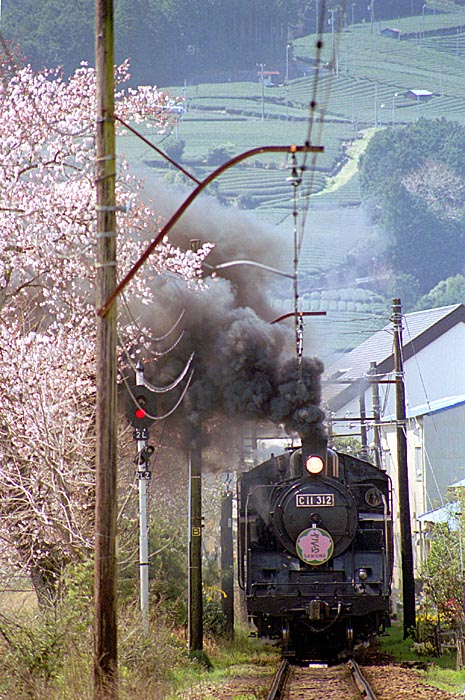
[[[400,39],[382,35],[393,28],[400,29]],[[421,15],[399,22],[349,25],[325,35],[319,65],[315,42],[314,35],[293,42],[287,86],[278,75],[273,86],[262,85],[257,77],[256,82],[171,88],[185,100],[181,119],[170,135],[144,132],[161,149],[184,141],[182,165],[198,179],[212,171],[207,161],[214,147],[232,156],[264,144],[309,140],[324,146],[324,153],[307,159],[297,188],[299,217],[305,220],[299,270],[307,282],[302,295],[309,293],[312,277],[343,268],[347,256],[372,234],[360,209],[357,161],[373,133],[422,117],[465,123],[465,8],[427,3]],[[431,95],[423,99],[409,95],[410,90]],[[316,106],[309,112],[311,100]],[[188,184],[134,137],[120,137],[119,148],[132,161],[150,163],[163,180]],[[279,226],[291,246],[294,201],[288,165],[284,156],[258,156],[225,172],[211,193],[227,206],[251,209],[260,221]],[[289,249],[285,256],[288,261],[291,253]],[[343,284],[344,303],[327,304],[328,316],[318,320],[328,352],[349,348],[386,323],[379,296],[368,294],[362,306],[359,285],[353,283],[351,292]],[[319,304],[326,302],[318,294],[311,292],[303,303],[323,308]]]

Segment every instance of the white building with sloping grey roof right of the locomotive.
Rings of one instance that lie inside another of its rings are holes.
[[[444,503],[449,484],[465,477],[465,306],[406,314],[402,323],[402,356],[407,408],[407,460],[415,567],[424,556],[420,515]],[[369,446],[373,446],[373,385],[366,383],[371,363],[376,375],[381,413],[382,467],[392,478],[396,563],[399,586],[401,558],[397,475],[393,326],[386,326],[339,358],[326,372],[323,398],[332,429],[360,434],[365,403]],[[362,397],[362,398],[360,398]],[[396,516],[397,513],[397,516]]]

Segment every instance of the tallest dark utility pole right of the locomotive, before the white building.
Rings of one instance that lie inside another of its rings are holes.
[[[402,550],[402,597],[404,604],[404,639],[411,637],[416,627],[415,578],[413,571],[412,525],[407,464],[407,414],[405,409],[404,367],[402,360],[402,306],[400,299],[392,300],[394,326],[394,374],[396,380],[397,469],[399,484],[400,541]]]

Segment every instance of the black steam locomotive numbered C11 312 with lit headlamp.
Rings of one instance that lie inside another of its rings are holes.
[[[303,440],[241,475],[239,585],[258,636],[341,657],[388,624],[391,487],[369,462]]]

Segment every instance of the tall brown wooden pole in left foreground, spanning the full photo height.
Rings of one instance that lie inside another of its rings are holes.
[[[96,306],[116,287],[113,0],[96,0]],[[97,316],[94,698],[117,700],[116,301]]]

